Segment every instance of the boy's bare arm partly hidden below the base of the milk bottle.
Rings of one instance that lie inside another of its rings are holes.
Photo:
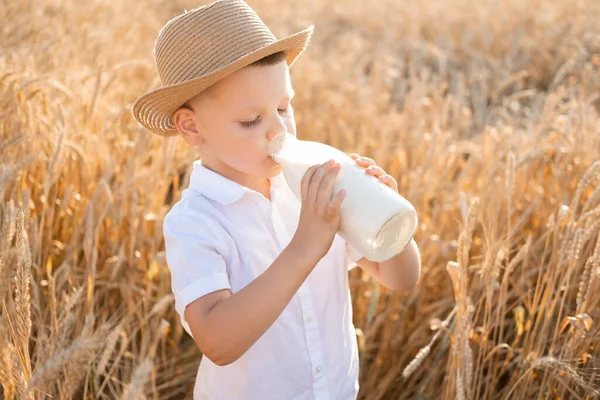
[[[402,253],[387,261],[377,263],[363,257],[356,264],[377,282],[395,292],[411,290],[421,275],[421,256],[414,239]]]

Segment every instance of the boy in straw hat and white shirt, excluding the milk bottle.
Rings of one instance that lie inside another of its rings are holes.
[[[267,154],[277,134],[296,134],[289,67],[312,30],[277,40],[241,0],[186,12],[156,41],[163,87],[133,107],[150,131],[202,153],[163,222],[175,307],[204,355],[194,399],[356,398],[348,265],[396,291],[419,277],[414,241],[378,264],[336,235],[339,164],[311,167],[300,202]]]

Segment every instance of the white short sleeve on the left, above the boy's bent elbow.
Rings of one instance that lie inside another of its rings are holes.
[[[167,215],[163,221],[165,254],[171,273],[175,309],[192,335],[185,308],[194,300],[221,289],[231,289],[224,241],[214,221],[187,214]]]

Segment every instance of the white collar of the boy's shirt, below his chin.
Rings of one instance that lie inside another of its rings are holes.
[[[269,180],[271,181],[271,200],[273,200],[275,191],[285,182],[285,178],[283,177],[283,173],[280,173]],[[206,168],[202,165],[201,160],[196,160],[193,163],[190,188],[222,204],[234,203],[241,199],[247,192],[260,194]]]

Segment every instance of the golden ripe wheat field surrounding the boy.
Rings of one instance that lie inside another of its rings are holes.
[[[351,271],[360,399],[600,398],[600,2],[249,0],[298,136],[372,157],[423,271]],[[0,398],[191,399],[161,221],[201,158],[131,117],[192,1],[0,2]]]

